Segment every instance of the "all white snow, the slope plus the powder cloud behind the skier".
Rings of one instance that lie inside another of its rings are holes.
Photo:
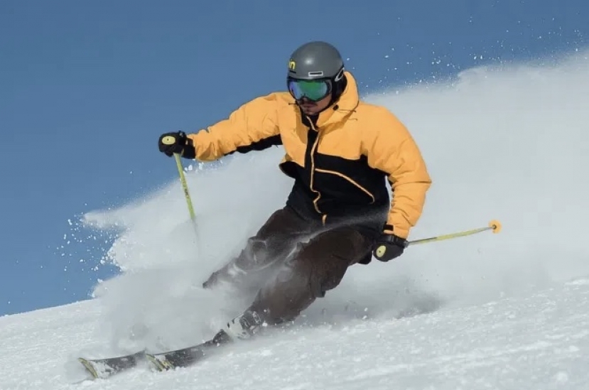
[[[409,126],[431,170],[411,239],[495,218],[502,233],[354,266],[300,327],[196,367],[72,384],[79,354],[190,345],[247,305],[199,286],[283,204],[281,151],[188,170],[202,245],[177,180],[88,213],[116,234],[109,261],[125,272],[94,300],[0,318],[0,389],[587,389],[587,64],[573,53],[367,97]]]

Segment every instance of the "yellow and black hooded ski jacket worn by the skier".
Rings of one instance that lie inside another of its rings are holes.
[[[345,76],[342,96],[316,123],[301,115],[288,92],[271,93],[188,134],[195,157],[213,161],[283,145],[279,166],[296,179],[288,201],[299,212],[326,224],[386,207],[380,231],[407,238],[431,185],[426,163],[404,124],[384,107],[361,102],[354,77]]]

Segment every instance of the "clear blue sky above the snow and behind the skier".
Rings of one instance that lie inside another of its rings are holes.
[[[0,315],[87,298],[112,275],[92,270],[108,245],[68,220],[173,180],[159,134],[282,90],[301,43],[337,45],[369,92],[585,47],[588,11],[583,0],[1,1]]]

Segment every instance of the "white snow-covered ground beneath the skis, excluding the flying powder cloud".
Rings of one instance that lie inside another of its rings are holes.
[[[92,303],[1,319],[0,389],[587,389],[589,279],[523,298],[284,332],[195,367],[79,379]]]

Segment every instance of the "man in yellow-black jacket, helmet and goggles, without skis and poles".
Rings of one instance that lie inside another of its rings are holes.
[[[288,92],[252,99],[203,131],[166,133],[158,141],[167,156],[199,161],[271,146],[286,151],[279,167],[294,180],[286,205],[203,283],[256,288],[249,308],[215,341],[293,320],[335,288],[349,266],[403,254],[431,185],[409,131],[384,107],[360,101],[333,45],[297,48],[286,83]]]

